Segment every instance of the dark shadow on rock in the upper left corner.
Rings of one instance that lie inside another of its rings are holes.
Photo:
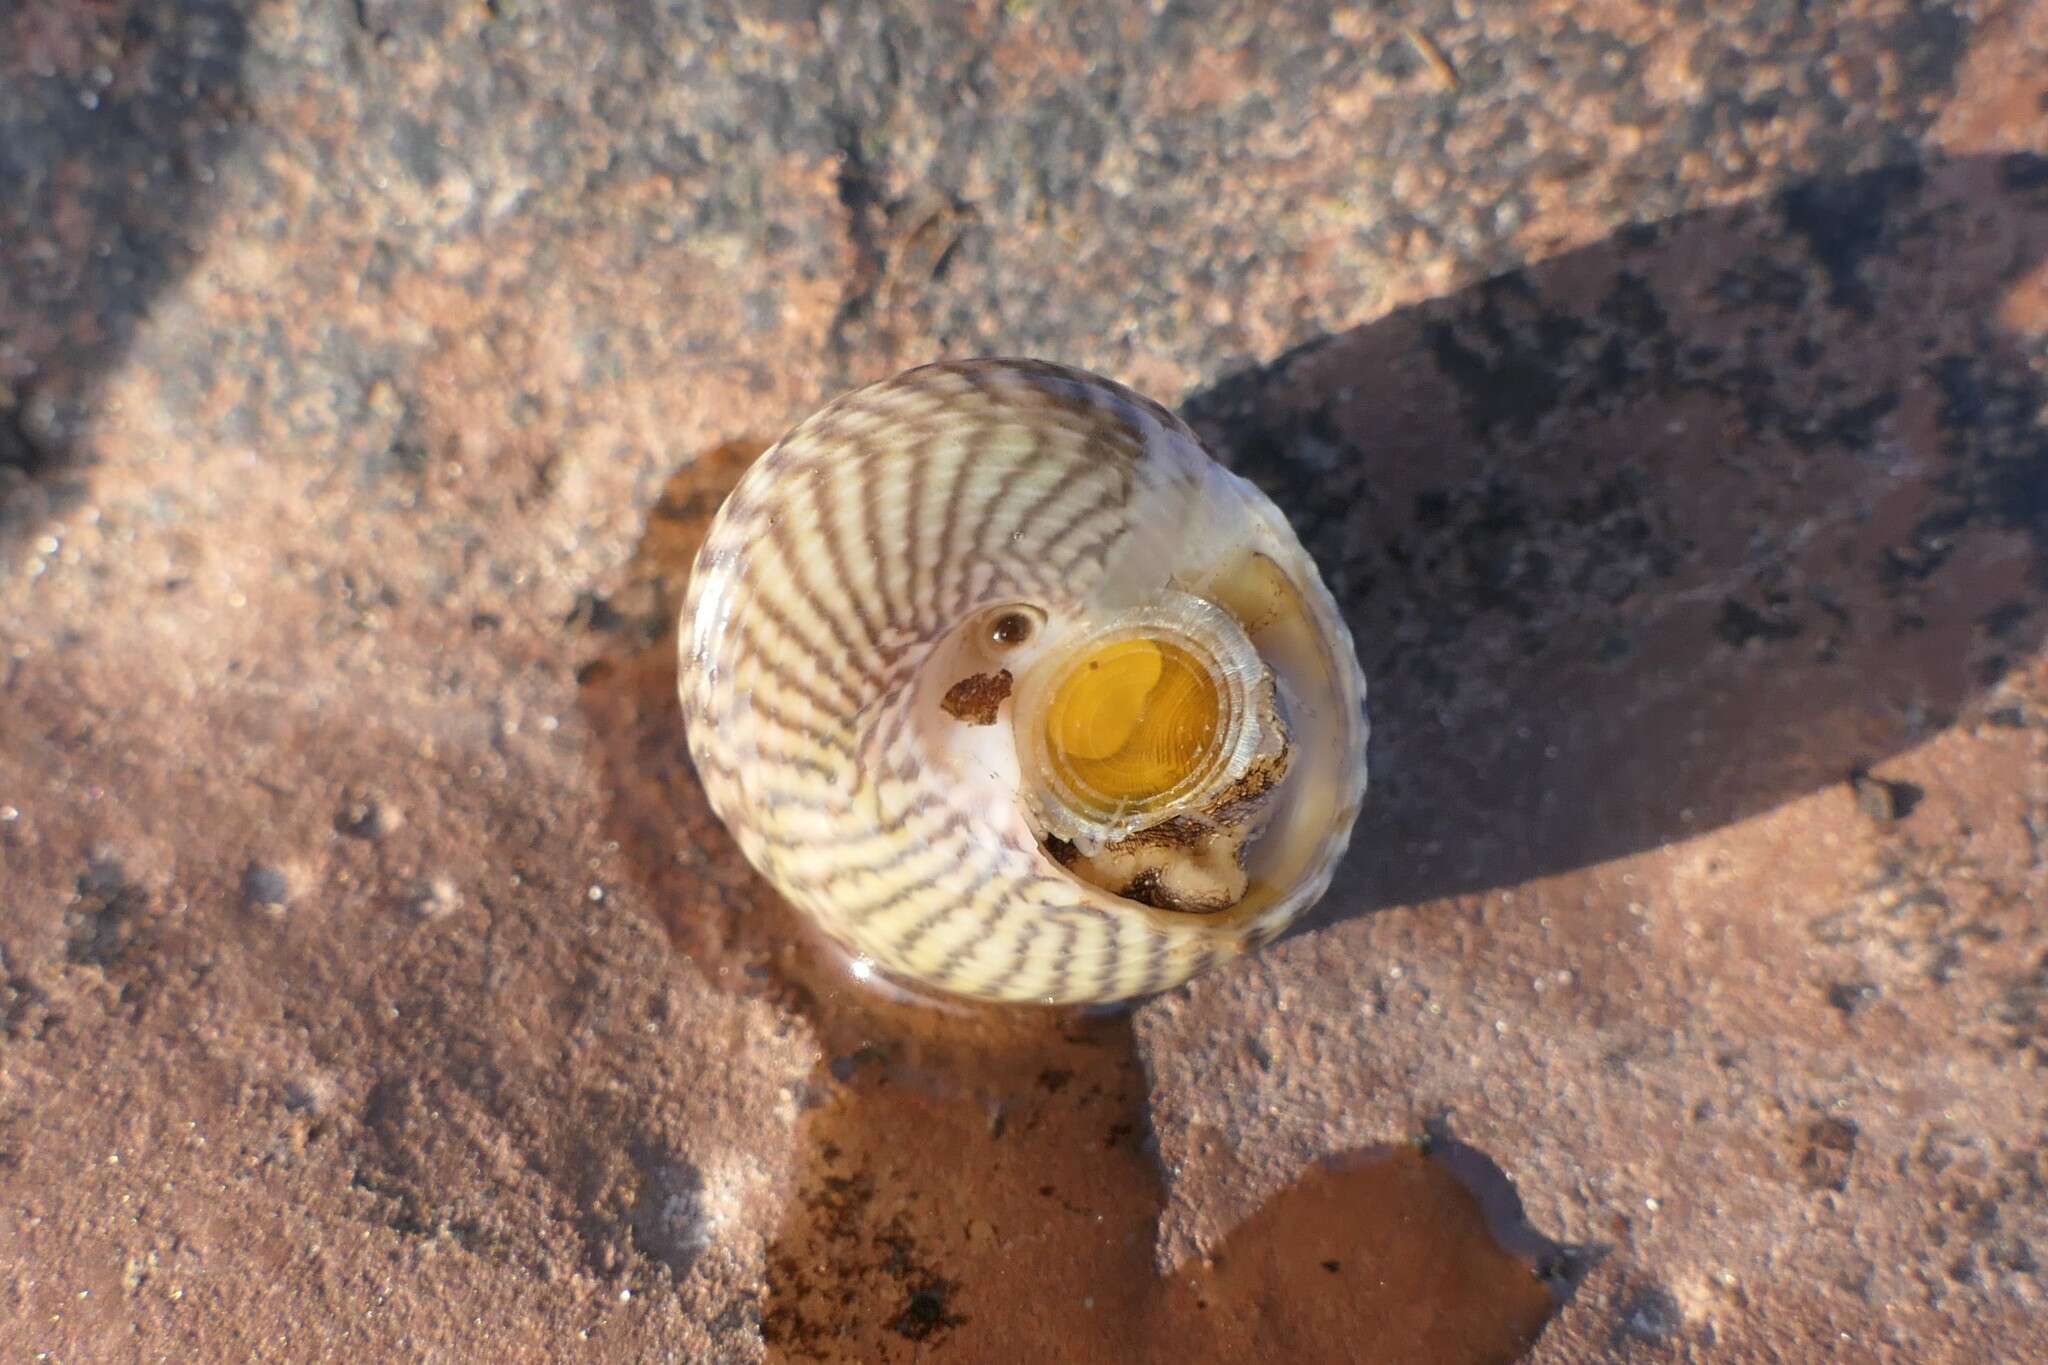
[[[80,495],[100,379],[193,262],[248,0],[0,12],[0,565]]]

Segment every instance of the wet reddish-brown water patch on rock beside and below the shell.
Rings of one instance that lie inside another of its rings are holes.
[[[705,526],[758,442],[678,471],[633,563],[565,626],[606,833],[715,988],[815,1031],[791,1199],[748,1306],[774,1361],[1513,1361],[1577,1283],[1491,1160],[1432,1134],[1317,1162],[1202,1265],[1155,1267],[1165,1177],[1126,1011],[1014,1009],[856,982],[745,866],[684,753],[674,622]],[[659,1154],[655,1154],[659,1156]],[[635,1156],[594,1269],[686,1267],[688,1169]],[[616,1226],[614,1226],[616,1224]]]

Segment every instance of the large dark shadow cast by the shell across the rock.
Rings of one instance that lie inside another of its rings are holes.
[[[2030,657],[2044,248],[2048,158],[1890,166],[1628,227],[1190,397],[1372,681],[1372,792],[1315,921],[1847,782]]]

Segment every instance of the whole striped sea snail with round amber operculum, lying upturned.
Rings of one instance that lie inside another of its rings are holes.
[[[1266,943],[1366,790],[1366,681],[1286,518],[1055,364],[930,364],[799,424],[719,510],[680,653],[748,860],[954,995],[1118,1001]]]

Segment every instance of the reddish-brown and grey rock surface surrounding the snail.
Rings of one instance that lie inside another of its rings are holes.
[[[1135,1011],[682,753],[721,491],[965,354],[1372,677]],[[8,1359],[2048,1359],[2044,411],[2028,0],[0,6]]]

